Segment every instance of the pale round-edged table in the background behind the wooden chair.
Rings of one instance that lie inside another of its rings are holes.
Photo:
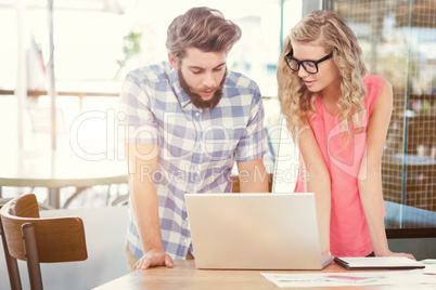
[[[0,160],[0,187],[47,187],[48,203],[56,209],[61,208],[62,187],[75,186],[78,194],[94,185],[128,182],[125,160],[92,161],[62,151],[1,153]]]

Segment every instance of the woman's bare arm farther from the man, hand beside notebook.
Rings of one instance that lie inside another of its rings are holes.
[[[390,84],[385,82],[375,101],[368,123],[367,148],[359,169],[358,186],[374,254],[376,256],[406,255],[413,259],[411,254],[393,253],[389,251],[384,226],[381,164],[392,108],[393,91]]]

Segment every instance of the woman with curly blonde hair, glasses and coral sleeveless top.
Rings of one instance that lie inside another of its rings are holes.
[[[388,256],[381,159],[393,92],[368,75],[356,36],[333,11],[304,17],[279,62],[283,115],[299,147],[295,192],[316,194],[323,254]]]

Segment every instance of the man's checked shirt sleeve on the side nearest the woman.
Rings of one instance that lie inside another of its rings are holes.
[[[264,117],[264,103],[257,88],[254,91],[247,127],[236,147],[236,162],[255,160],[267,154],[268,147],[265,139]]]

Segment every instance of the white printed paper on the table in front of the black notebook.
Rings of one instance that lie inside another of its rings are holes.
[[[354,272],[317,274],[269,274],[260,273],[278,287],[342,287],[342,286],[413,286],[436,287],[436,275],[424,274],[424,269],[394,272]]]

